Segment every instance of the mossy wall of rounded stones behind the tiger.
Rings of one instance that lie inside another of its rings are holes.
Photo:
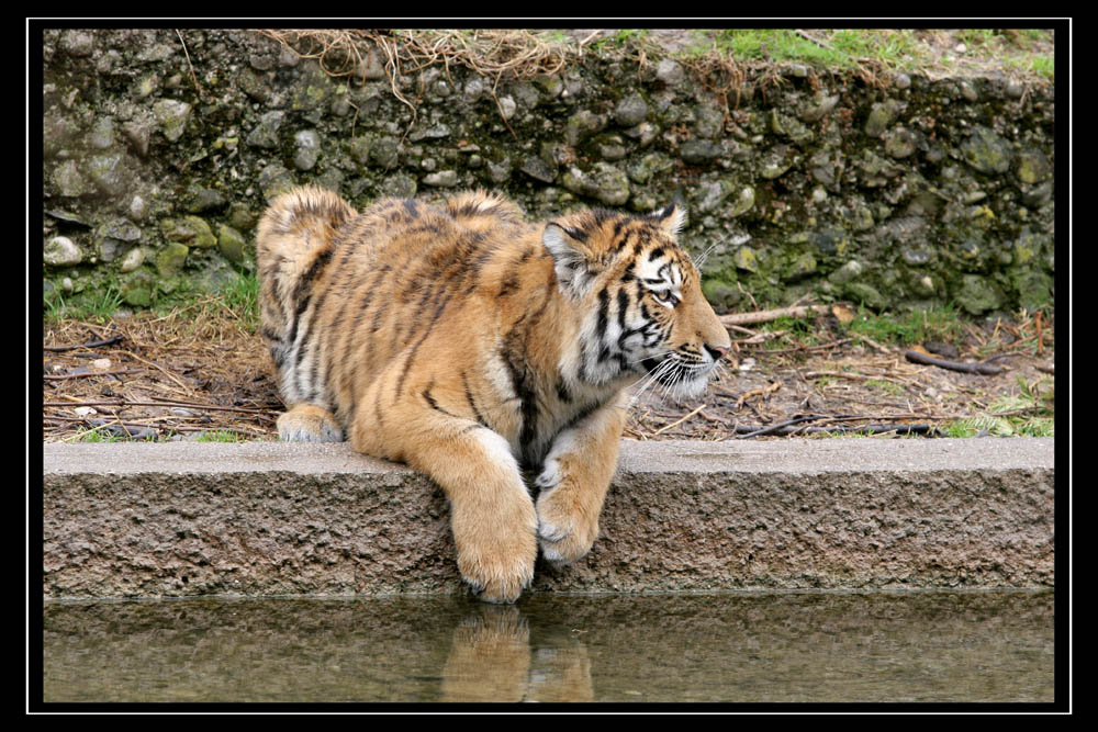
[[[603,50],[494,90],[429,66],[396,80],[413,120],[378,55],[333,78],[248,31],[42,40],[47,299],[214,291],[253,268],[270,198],[304,182],[358,206],[484,187],[536,216],[685,202],[718,309],[744,293],[971,314],[1053,299],[1051,85],[879,88],[794,65],[721,99],[681,63]]]

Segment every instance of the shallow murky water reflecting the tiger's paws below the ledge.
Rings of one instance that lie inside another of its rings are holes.
[[[1053,701],[1052,592],[48,603],[52,701]]]

